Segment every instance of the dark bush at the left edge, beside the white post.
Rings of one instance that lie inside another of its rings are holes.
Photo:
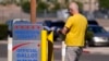
[[[8,37],[8,25],[0,24],[0,39],[4,39]]]

